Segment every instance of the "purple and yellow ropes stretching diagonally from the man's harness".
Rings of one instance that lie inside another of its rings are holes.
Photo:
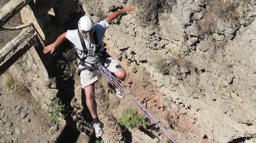
[[[112,85],[115,85],[120,90],[122,90],[122,92],[124,92],[129,100],[132,101],[132,103],[134,103],[134,105],[136,105],[136,107],[138,107],[140,111],[142,111],[142,113],[144,113],[151,121],[153,121],[165,133],[165,135],[167,135],[167,137],[169,137],[174,143],[177,143],[173,136],[165,128],[163,128],[163,126],[161,126],[161,124],[159,124],[159,122],[157,122],[157,120],[152,117],[147,109],[145,109],[145,107],[140,102],[138,102],[138,100],[136,100],[136,98],[124,87],[124,85],[121,84],[122,81],[114,77],[111,71],[109,71],[104,66],[99,66],[99,70],[107,78],[107,80],[112,83]]]

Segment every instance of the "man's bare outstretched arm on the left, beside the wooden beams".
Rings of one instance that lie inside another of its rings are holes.
[[[56,39],[56,41],[54,42],[54,43],[52,43],[52,44],[50,44],[50,45],[48,45],[48,46],[46,46],[45,48],[44,48],[44,53],[45,54],[47,54],[47,53],[54,53],[55,52],[55,50],[56,50],[56,48],[58,47],[58,45],[60,45],[63,41],[65,41],[66,40],[66,34],[67,34],[67,32],[65,32],[65,33],[63,33],[63,34],[61,34],[57,39]]]

